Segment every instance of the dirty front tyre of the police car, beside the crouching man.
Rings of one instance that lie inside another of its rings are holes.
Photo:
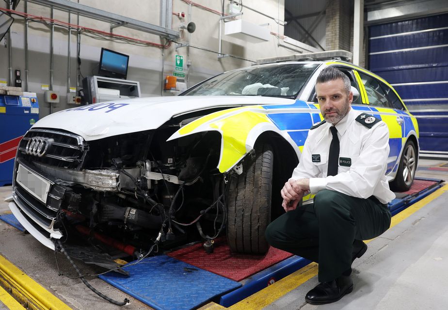
[[[240,175],[230,179],[227,241],[233,252],[266,253],[264,233],[271,221],[273,152],[269,144],[255,147]]]

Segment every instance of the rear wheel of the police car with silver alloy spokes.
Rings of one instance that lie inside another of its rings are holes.
[[[393,191],[404,192],[411,188],[417,168],[416,145],[408,140],[404,145],[395,180],[390,183]]]

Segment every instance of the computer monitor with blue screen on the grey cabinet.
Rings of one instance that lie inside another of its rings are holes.
[[[128,75],[129,56],[101,48],[98,75],[108,78],[125,78]]]

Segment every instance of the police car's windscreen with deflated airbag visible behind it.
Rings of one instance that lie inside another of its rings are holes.
[[[187,90],[188,96],[272,96],[296,98],[316,63],[276,63],[225,72]]]

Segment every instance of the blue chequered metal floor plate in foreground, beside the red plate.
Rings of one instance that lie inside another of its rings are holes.
[[[110,272],[99,278],[156,310],[190,310],[241,286],[166,255],[123,269],[129,277]]]

